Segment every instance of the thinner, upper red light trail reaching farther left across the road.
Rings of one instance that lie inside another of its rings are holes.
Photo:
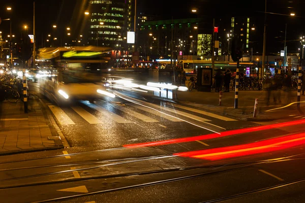
[[[220,134],[212,133],[212,134],[203,134],[201,136],[194,136],[194,137],[188,137],[188,138],[178,138],[178,139],[156,141],[156,142],[128,144],[128,145],[123,145],[123,147],[126,147],[126,148],[151,147],[151,146],[159,146],[159,145],[169,145],[169,144],[174,144],[174,143],[193,142],[196,140],[210,140],[210,139],[215,139],[215,138],[232,136],[234,134],[241,134],[241,133],[259,131],[259,130],[267,130],[267,129],[272,129],[272,128],[286,127],[286,126],[298,125],[298,124],[304,124],[304,123],[305,123],[305,119],[301,119],[301,120],[289,121],[289,122],[284,122],[284,123],[276,123],[276,124],[270,124],[270,125],[262,125],[262,126],[256,126],[256,127],[229,130],[229,131],[221,132]]]

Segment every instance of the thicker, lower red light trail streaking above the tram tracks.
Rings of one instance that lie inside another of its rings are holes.
[[[174,155],[208,160],[219,160],[225,158],[278,151],[302,144],[305,144],[305,133],[292,134],[291,136],[273,138],[257,143],[249,143],[244,145],[221,147],[193,152],[175,153]]]

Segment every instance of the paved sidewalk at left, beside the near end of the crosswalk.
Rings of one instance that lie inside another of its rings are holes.
[[[22,101],[0,101],[0,155],[63,148],[39,99],[30,97],[28,114]]]

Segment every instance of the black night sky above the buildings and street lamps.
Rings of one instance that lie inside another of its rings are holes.
[[[41,38],[45,38],[51,33],[52,25],[57,25],[57,32],[64,32],[67,26],[72,28],[71,33],[79,34],[83,24],[83,12],[86,10],[88,0],[37,0],[36,1],[36,32],[37,42],[41,44]],[[212,1],[212,0],[188,0],[188,1],[140,1],[138,0],[137,11],[151,15],[158,15],[160,19],[190,18],[206,16],[211,17],[231,17],[250,16],[256,18],[256,31],[263,33],[263,11],[264,0],[258,1]],[[12,18],[13,33],[19,35],[22,25],[29,26],[28,32],[33,32],[33,0],[0,0],[0,17],[2,19]],[[6,10],[7,6],[12,7],[12,11]],[[198,14],[194,15],[190,11],[192,8],[198,9]],[[290,8],[289,8],[290,7]],[[296,41],[305,28],[302,21],[305,15],[302,8],[305,7],[303,0],[267,0],[267,12],[290,14],[294,12],[295,17],[281,15],[267,15],[267,45],[272,48],[284,46],[285,23],[287,23],[287,43],[288,51],[295,51],[298,48]],[[297,17],[297,16],[304,17]],[[9,23],[3,21],[0,30],[5,35],[9,32]],[[40,41],[40,42],[39,42]],[[268,49],[268,48],[267,48]]]

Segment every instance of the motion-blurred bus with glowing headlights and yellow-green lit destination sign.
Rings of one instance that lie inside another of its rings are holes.
[[[58,105],[107,95],[102,74],[111,68],[111,51],[94,46],[40,49],[39,60],[50,60],[51,66],[57,70],[57,76],[39,78],[44,95]]]

